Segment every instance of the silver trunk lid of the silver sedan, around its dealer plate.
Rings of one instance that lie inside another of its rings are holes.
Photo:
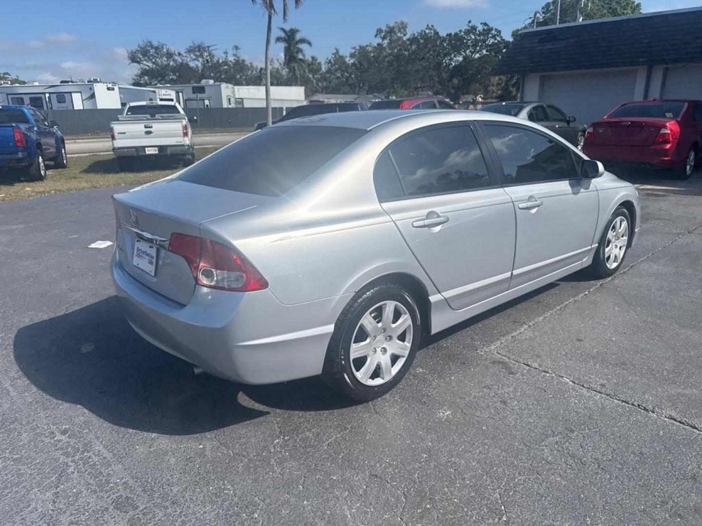
[[[114,196],[117,258],[124,270],[143,285],[180,304],[187,304],[195,280],[187,261],[168,252],[171,234],[200,236],[202,222],[252,210],[273,198],[242,194],[178,180],[163,180]],[[139,242],[137,241],[139,240]],[[156,250],[154,275],[133,264],[135,246]]]

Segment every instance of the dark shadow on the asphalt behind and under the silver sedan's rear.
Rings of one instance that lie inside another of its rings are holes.
[[[14,354],[29,382],[48,396],[81,405],[111,424],[150,433],[222,429],[263,417],[267,407],[319,411],[353,405],[320,379],[244,386],[194,376],[185,361],[132,330],[117,297],[21,328]],[[249,398],[246,405],[239,393]]]

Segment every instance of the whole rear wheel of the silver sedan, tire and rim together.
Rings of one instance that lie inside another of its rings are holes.
[[[406,375],[420,337],[419,310],[406,288],[381,283],[361,290],[336,321],[322,378],[354,400],[383,396]]]

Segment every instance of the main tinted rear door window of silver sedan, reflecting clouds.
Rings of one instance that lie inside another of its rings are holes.
[[[468,126],[417,133],[390,147],[407,196],[470,190],[491,185],[485,161]]]

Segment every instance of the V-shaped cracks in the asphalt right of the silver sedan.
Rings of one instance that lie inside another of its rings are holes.
[[[654,407],[649,407],[648,405],[633,401],[633,400],[626,400],[625,398],[622,398],[621,396],[616,396],[614,393],[608,393],[606,391],[602,391],[601,389],[597,389],[594,386],[590,386],[588,384],[584,384],[583,382],[578,382],[577,380],[574,380],[572,378],[569,378],[567,376],[561,375],[558,372],[555,372],[554,370],[550,370],[545,367],[540,367],[539,365],[536,365],[534,363],[529,363],[524,360],[519,360],[518,358],[515,358],[514,356],[510,356],[506,353],[503,353],[502,351],[499,350],[499,347],[503,346],[506,342],[509,342],[512,339],[515,339],[525,331],[533,328],[535,325],[538,325],[542,321],[545,321],[547,318],[550,318],[550,316],[553,316],[555,313],[562,311],[565,307],[569,306],[572,303],[578,302],[580,299],[583,299],[583,297],[587,296],[590,294],[590,292],[594,292],[598,288],[604,286],[605,284],[609,283],[610,281],[613,281],[616,279],[618,276],[622,276],[623,274],[626,274],[628,271],[636,267],[637,265],[641,264],[642,262],[646,261],[653,255],[657,254],[658,252],[661,252],[661,250],[665,250],[666,248],[670,247],[670,245],[673,245],[673,243],[680,241],[680,239],[684,238],[684,236],[688,236],[689,234],[698,234],[696,232],[697,229],[702,228],[702,224],[696,225],[696,227],[693,227],[687,231],[682,232],[682,234],[678,234],[673,238],[671,241],[668,243],[665,243],[664,245],[661,245],[660,247],[656,248],[655,250],[651,250],[647,255],[644,255],[637,259],[635,262],[629,265],[629,267],[622,269],[619,271],[617,274],[614,274],[613,276],[609,276],[609,278],[605,278],[602,281],[598,282],[597,284],[593,285],[590,287],[588,290],[585,290],[585,292],[581,292],[581,294],[578,294],[577,296],[571,297],[570,299],[567,299],[567,301],[563,302],[562,304],[559,304],[555,306],[553,309],[550,309],[550,311],[547,311],[544,313],[542,316],[539,316],[538,318],[535,318],[534,320],[530,321],[529,323],[524,323],[521,327],[519,327],[517,330],[510,332],[510,334],[505,335],[501,337],[500,339],[496,340],[493,344],[487,346],[486,348],[482,349],[479,351],[479,353],[486,353],[486,352],[491,352],[496,354],[497,356],[501,356],[501,358],[504,358],[505,360],[510,360],[513,363],[517,363],[519,365],[523,365],[524,367],[529,367],[530,369],[536,370],[538,372],[541,372],[545,375],[550,375],[552,377],[556,377],[559,379],[562,379],[566,382],[569,382],[570,384],[574,386],[581,387],[582,389],[586,389],[587,391],[590,391],[591,393],[596,393],[598,395],[604,396],[606,398],[609,398],[610,400],[614,400],[615,402],[622,403],[624,405],[628,405],[629,407],[635,407],[638,410],[647,412],[649,414],[653,414],[656,417],[660,417],[662,419],[668,420],[668,422],[673,422],[674,424],[678,424],[680,426],[684,426],[687,429],[691,429],[692,431],[696,431],[698,433],[702,433],[702,426],[691,422],[688,419],[685,419],[683,417],[679,417],[676,414],[670,413],[670,412],[665,412],[662,410],[657,410]]]

